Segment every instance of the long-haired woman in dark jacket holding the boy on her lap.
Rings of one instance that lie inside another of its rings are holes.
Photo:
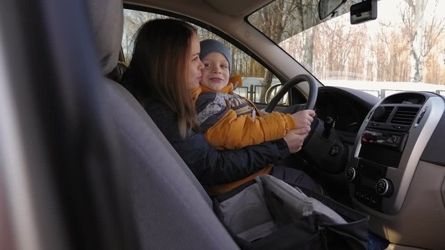
[[[198,132],[189,92],[202,78],[204,65],[199,55],[195,28],[176,19],[154,19],[138,32],[123,85],[140,101],[198,181],[207,187],[223,185],[225,188],[211,190],[220,193],[257,174],[267,174],[269,170],[264,167],[298,151],[305,135],[290,131],[283,139],[236,150],[212,147]],[[321,191],[312,178],[297,169],[274,166],[271,174]]]

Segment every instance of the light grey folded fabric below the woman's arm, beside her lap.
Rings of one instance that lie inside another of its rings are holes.
[[[303,217],[318,215],[319,223],[347,222],[321,201],[307,197],[298,188],[264,174],[256,184],[220,203],[225,222],[238,237],[253,242],[282,225],[299,223]],[[302,222],[302,224],[305,222]]]

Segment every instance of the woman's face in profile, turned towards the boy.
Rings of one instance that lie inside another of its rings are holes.
[[[204,65],[200,60],[200,40],[198,40],[196,33],[191,37],[191,50],[188,56],[188,89],[200,87],[202,78],[201,71]]]

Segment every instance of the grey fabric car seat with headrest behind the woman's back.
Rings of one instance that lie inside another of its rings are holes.
[[[120,0],[87,0],[105,76],[118,64]],[[152,119],[120,84],[103,78],[110,124],[129,172],[129,196],[141,249],[238,249],[211,201]],[[168,124],[165,124],[168,126]]]

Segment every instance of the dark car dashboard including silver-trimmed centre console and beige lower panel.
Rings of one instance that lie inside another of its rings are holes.
[[[321,122],[304,150],[316,151],[312,163],[337,188],[346,183],[348,205],[370,216],[370,231],[398,245],[443,249],[445,97],[399,92],[378,99],[323,86],[316,113]]]

